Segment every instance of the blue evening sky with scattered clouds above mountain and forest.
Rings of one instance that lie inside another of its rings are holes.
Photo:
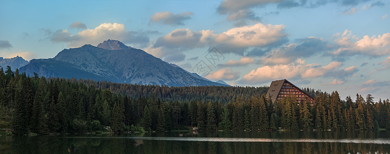
[[[48,59],[111,39],[212,81],[390,99],[390,2],[0,1],[0,56]]]

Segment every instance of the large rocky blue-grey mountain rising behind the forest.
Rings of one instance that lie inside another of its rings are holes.
[[[105,41],[98,47],[84,45],[64,49],[52,59],[31,60],[20,68],[20,72],[142,85],[226,86],[196,78],[178,66],[174,67],[143,50],[114,40]]]

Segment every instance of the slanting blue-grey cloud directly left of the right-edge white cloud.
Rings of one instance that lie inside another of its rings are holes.
[[[300,44],[289,44],[274,49],[261,58],[260,63],[265,65],[290,64],[301,57],[310,57],[316,53],[330,50],[327,42],[322,38],[307,37],[297,39]]]

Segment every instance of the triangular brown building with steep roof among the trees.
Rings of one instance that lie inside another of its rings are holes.
[[[281,100],[283,97],[288,95],[295,95],[298,103],[304,101],[306,97],[309,98],[310,105],[313,105],[314,103],[314,99],[309,94],[285,79],[273,81],[266,93],[266,97],[271,97],[272,102],[275,102],[275,100]]]

